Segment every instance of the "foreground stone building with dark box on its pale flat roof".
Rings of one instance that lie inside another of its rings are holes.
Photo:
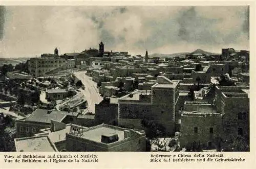
[[[106,124],[88,129],[71,127],[70,132],[66,134],[66,150],[72,152],[143,152],[146,150],[145,132]]]

